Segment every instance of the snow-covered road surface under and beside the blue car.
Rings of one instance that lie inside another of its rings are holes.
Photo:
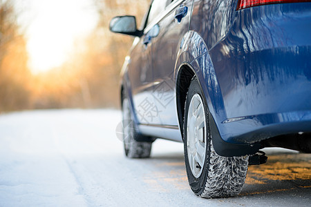
[[[241,195],[191,192],[182,144],[157,140],[150,159],[126,159],[117,110],[0,115],[0,206],[311,206],[311,155],[268,149]]]

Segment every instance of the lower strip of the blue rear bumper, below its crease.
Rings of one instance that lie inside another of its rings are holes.
[[[311,110],[284,112],[251,117],[238,117],[239,121],[227,122],[230,128],[223,138],[234,143],[254,143],[277,137],[311,132]]]

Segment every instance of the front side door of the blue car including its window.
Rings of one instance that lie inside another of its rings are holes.
[[[135,114],[140,124],[160,126],[162,108],[158,106],[154,96],[153,79],[153,39],[159,34],[159,27],[156,19],[164,12],[167,2],[171,0],[154,0],[149,8],[146,22],[144,23],[144,34],[140,37],[135,48],[131,52],[131,68],[129,77],[133,90],[133,105]],[[135,43],[135,41],[134,41]]]

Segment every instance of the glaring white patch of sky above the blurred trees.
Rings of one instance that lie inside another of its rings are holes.
[[[19,23],[26,28],[28,66],[44,72],[61,66],[73,52],[76,39],[97,25],[92,0],[19,0]]]

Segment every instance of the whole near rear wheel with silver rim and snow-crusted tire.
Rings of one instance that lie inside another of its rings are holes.
[[[238,195],[247,175],[248,156],[221,157],[215,152],[207,103],[196,77],[187,93],[183,137],[191,190],[206,198]]]

